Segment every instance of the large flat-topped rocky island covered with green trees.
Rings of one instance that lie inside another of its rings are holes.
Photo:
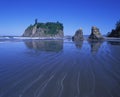
[[[59,22],[35,23],[30,25],[23,37],[63,37],[63,25]]]

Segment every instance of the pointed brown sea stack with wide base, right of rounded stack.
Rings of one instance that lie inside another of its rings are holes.
[[[89,40],[102,40],[103,36],[101,35],[99,29],[95,26],[91,29],[91,34],[89,36]]]

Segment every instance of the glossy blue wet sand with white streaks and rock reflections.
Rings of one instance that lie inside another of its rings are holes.
[[[0,97],[120,97],[120,42],[0,40]]]

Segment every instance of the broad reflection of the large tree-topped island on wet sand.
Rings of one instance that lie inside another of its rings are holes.
[[[29,49],[46,52],[59,52],[63,49],[63,40],[30,40],[24,43]]]

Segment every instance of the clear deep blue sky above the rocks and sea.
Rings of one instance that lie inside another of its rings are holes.
[[[0,35],[22,35],[35,18],[62,22],[65,35],[89,35],[91,26],[106,34],[120,19],[120,0],[0,0]]]

